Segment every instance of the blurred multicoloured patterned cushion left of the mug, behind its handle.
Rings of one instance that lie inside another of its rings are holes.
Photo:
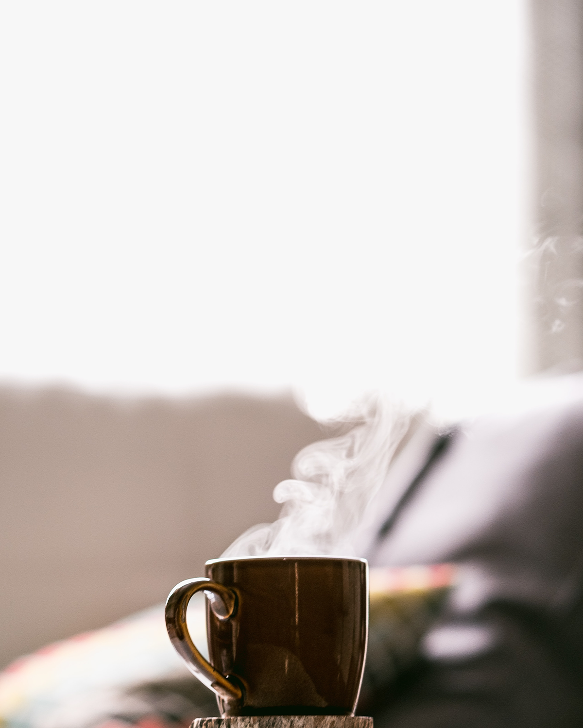
[[[204,649],[203,604],[189,609],[188,620]],[[47,646],[0,673],[3,728],[176,727],[216,714],[214,695],[171,646],[162,605]]]

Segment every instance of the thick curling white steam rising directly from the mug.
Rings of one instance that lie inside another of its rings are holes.
[[[362,515],[410,415],[381,395],[369,395],[334,424],[342,434],[300,451],[291,466],[294,480],[275,486],[273,499],[283,503],[278,520],[245,531],[224,557],[354,555]]]

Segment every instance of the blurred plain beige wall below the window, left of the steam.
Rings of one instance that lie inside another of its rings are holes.
[[[321,436],[291,398],[0,388],[0,667],[203,575]]]

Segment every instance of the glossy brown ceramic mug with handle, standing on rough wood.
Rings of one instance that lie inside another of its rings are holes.
[[[210,662],[189,636],[192,595],[207,596]],[[218,558],[173,588],[166,627],[222,716],[353,715],[368,633],[368,565],[328,556]]]

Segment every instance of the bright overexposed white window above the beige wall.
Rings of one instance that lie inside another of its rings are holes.
[[[0,376],[319,412],[512,379],[523,6],[2,4]]]

